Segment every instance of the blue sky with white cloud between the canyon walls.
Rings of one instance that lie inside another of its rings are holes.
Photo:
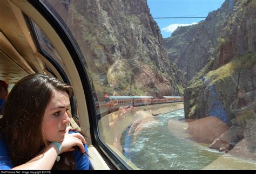
[[[225,0],[147,0],[150,13],[155,17],[207,17],[208,12],[217,10]],[[205,18],[154,19],[163,38],[170,37],[178,26],[197,24]]]

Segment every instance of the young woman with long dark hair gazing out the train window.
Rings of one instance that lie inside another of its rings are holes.
[[[0,170],[88,170],[84,136],[71,131],[72,87],[43,74],[19,80],[0,120]]]

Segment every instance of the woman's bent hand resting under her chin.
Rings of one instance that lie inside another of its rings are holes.
[[[73,133],[69,134],[69,130],[71,130],[71,127],[66,128],[66,134],[63,142],[59,142],[62,145],[62,150],[60,151],[60,154],[63,152],[73,151],[75,150],[75,146],[77,145],[80,149],[80,151],[84,154],[84,144],[86,144],[86,141],[80,133]]]

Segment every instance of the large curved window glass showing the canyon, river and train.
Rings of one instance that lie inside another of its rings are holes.
[[[127,165],[255,169],[255,1],[41,2],[82,52],[100,141]]]

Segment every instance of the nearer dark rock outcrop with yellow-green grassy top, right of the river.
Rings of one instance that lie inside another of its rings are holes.
[[[212,115],[231,124],[235,118],[231,104],[239,96],[256,89],[255,64],[256,53],[246,54],[191,83],[184,92],[185,117],[195,119]]]

